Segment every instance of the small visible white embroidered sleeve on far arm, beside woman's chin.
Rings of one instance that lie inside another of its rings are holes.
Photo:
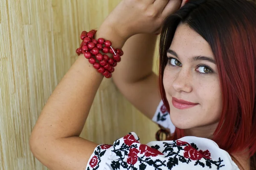
[[[165,105],[163,105],[162,100],[157,107],[157,110],[154,114],[154,117],[152,118],[152,121],[156,122],[158,125],[160,125],[164,128],[168,128],[170,133],[175,132],[175,126],[173,125],[173,123],[170,119],[170,115],[169,115]]]

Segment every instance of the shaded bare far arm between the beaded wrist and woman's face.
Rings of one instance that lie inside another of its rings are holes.
[[[158,76],[152,71],[155,34],[137,34],[123,47],[124,55],[113,73],[119,91],[149,119],[161,100]]]

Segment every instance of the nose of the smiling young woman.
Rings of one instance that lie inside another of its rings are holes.
[[[190,93],[192,91],[191,79],[192,75],[189,69],[181,68],[172,82],[172,87],[177,92]]]

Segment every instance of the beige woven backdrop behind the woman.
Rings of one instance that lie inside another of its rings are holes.
[[[45,170],[29,136],[55,86],[76,59],[79,35],[97,28],[120,0],[0,0],[0,170]],[[135,131],[146,143],[157,126],[105,79],[82,137],[111,144]]]

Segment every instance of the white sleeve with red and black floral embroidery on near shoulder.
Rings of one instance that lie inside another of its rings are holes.
[[[99,145],[86,170],[239,170],[229,154],[210,139],[186,136],[141,144],[135,133]]]

